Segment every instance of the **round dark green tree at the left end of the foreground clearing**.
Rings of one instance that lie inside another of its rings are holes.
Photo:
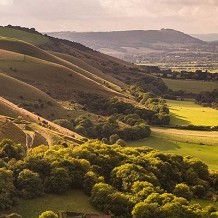
[[[36,198],[44,193],[42,181],[38,173],[24,169],[17,177],[17,188],[23,198]]]

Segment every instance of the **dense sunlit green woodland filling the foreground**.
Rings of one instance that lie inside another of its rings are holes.
[[[38,198],[82,189],[99,210],[115,217],[216,217],[211,199],[218,174],[193,157],[163,154],[148,147],[125,148],[89,141],[81,146],[39,146],[26,151],[10,140],[0,143],[0,209],[17,198]],[[213,216],[212,216],[213,214]]]

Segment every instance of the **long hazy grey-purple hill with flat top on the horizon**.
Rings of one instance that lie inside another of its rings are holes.
[[[97,50],[105,47],[146,47],[151,43],[202,43],[199,39],[172,29],[84,33],[52,32],[48,34],[79,42]]]

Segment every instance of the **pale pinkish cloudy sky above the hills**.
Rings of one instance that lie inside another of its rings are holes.
[[[40,32],[162,28],[189,34],[218,32],[216,0],[0,0],[0,13],[0,25]]]

